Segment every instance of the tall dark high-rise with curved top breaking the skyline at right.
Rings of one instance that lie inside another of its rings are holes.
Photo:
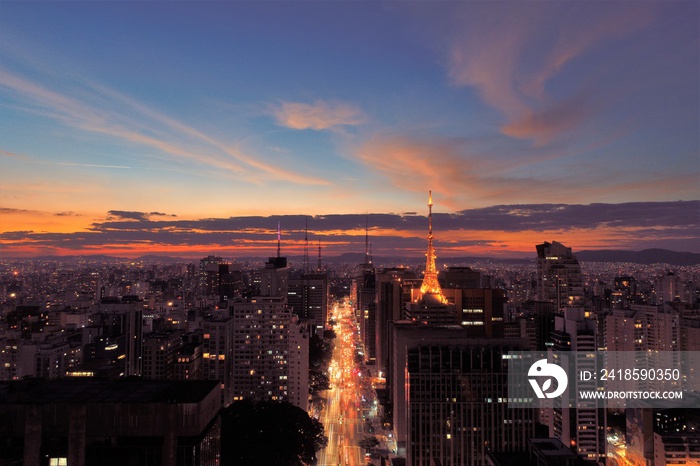
[[[554,303],[557,312],[583,304],[581,265],[576,256],[561,243],[538,244],[537,299]]]

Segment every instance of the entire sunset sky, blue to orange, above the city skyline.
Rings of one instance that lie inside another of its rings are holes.
[[[0,257],[700,252],[700,3],[0,0]]]

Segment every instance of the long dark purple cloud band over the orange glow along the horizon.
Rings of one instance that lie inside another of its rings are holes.
[[[367,225],[375,254],[417,256],[425,248],[427,230],[426,215],[413,213],[277,215],[200,220],[178,220],[172,215],[153,212],[113,210],[109,214],[110,219],[94,223],[86,232],[14,231],[3,233],[0,240],[9,251],[24,245],[79,251],[105,245],[128,247],[140,244],[161,249],[187,246],[202,250],[252,246],[264,251],[269,247],[272,252],[279,222],[283,249],[298,253],[308,225],[312,245],[315,246],[320,239],[325,254],[333,255],[364,251],[364,230]],[[564,237],[567,233],[575,237],[578,231],[599,228],[616,232],[610,244],[619,249],[665,247],[695,251],[700,244],[700,201],[499,205],[435,213],[433,226],[436,244],[443,252],[459,253],[460,248],[473,246],[500,247],[501,242],[489,237],[492,232],[517,234],[534,231],[548,235],[558,232]],[[398,233],[394,234],[394,231]],[[485,232],[483,238],[478,238],[480,231]],[[464,232],[463,238],[460,232]]]

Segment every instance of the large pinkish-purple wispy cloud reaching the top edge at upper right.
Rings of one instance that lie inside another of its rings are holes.
[[[582,91],[593,73],[611,64],[599,61],[564,92],[549,90],[555,78],[595,47],[638,31],[653,19],[651,4],[600,6],[510,2],[508,14],[503,14],[501,2],[480,4],[477,20],[472,5],[466,4],[461,13],[472,20],[469,27],[451,32],[449,77],[457,86],[474,87],[505,116],[504,134],[546,144],[601,109],[585,105],[593,96],[582,98]]]

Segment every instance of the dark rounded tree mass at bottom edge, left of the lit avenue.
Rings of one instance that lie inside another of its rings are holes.
[[[328,438],[323,424],[287,402],[237,401],[222,410],[222,465],[301,466]]]

